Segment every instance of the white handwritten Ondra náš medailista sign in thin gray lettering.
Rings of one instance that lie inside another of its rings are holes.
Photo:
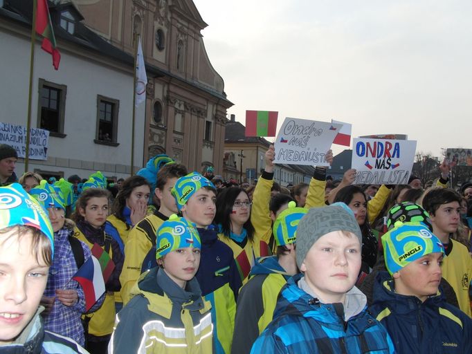
[[[325,155],[342,124],[285,118],[275,138],[275,163],[329,166]]]

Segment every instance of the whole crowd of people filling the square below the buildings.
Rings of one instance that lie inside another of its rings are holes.
[[[472,353],[472,183],[288,189],[274,158],[255,186],[165,155],[111,185],[17,179],[0,145],[0,353]]]

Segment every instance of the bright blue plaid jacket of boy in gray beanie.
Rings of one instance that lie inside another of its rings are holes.
[[[345,322],[341,304],[321,304],[298,287],[302,276],[282,288],[273,321],[251,353],[394,353],[385,328],[365,308]]]

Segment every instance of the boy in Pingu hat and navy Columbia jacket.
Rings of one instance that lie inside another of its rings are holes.
[[[397,353],[472,353],[472,320],[439,287],[441,241],[423,223],[397,222],[382,243],[388,272],[376,276],[369,311]]]

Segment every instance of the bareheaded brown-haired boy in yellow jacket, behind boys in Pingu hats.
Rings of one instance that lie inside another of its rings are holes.
[[[170,194],[177,178],[185,176],[187,169],[183,165],[171,164],[165,165],[159,169],[156,179],[155,196],[159,199],[160,207],[154,214],[150,214],[137,223],[129,231],[128,239],[125,244],[125,263],[120,274],[121,290],[123,304],[130,299],[131,288],[138,280],[143,266],[143,260],[149,251],[156,245],[156,231],[171,214],[179,211],[175,204],[175,199]],[[156,266],[156,259],[152,254],[152,266]]]

